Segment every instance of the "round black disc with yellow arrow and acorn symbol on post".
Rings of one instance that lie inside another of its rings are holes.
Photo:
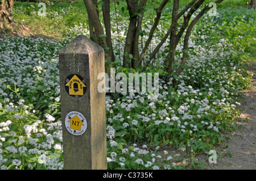
[[[85,95],[86,85],[85,80],[79,74],[71,74],[65,81],[65,90],[68,95],[73,98],[81,98]]]

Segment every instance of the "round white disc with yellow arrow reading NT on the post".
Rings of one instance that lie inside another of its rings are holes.
[[[87,121],[80,112],[72,111],[65,117],[65,127],[69,133],[80,136],[86,131]]]

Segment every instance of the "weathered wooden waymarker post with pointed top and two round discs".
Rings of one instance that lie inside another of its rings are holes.
[[[79,35],[59,52],[64,169],[106,169],[104,49]]]

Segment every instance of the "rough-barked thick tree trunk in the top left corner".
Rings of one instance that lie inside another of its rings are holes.
[[[6,24],[13,22],[13,5],[16,0],[0,0],[0,28],[6,27]]]

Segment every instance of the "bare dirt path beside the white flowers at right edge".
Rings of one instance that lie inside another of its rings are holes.
[[[217,163],[207,162],[207,169],[213,170],[256,170],[256,63],[249,63],[249,71],[254,74],[253,89],[245,92],[241,102],[239,128],[225,137],[230,137],[228,148],[220,149]],[[250,120],[250,121],[248,121]]]

